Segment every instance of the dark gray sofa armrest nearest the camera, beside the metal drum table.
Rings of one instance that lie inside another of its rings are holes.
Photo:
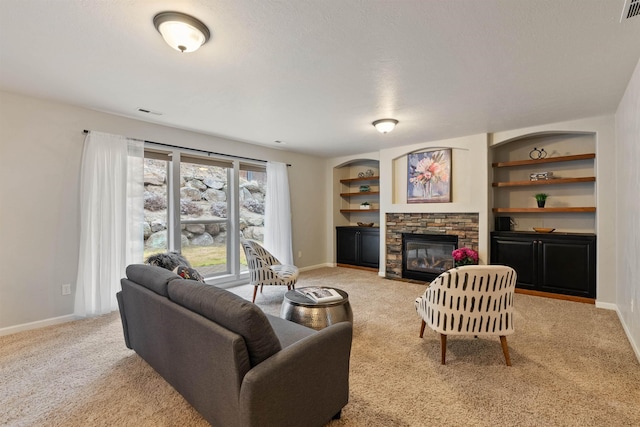
[[[322,426],[349,401],[352,325],[340,322],[251,369],[240,389],[244,426]]]

